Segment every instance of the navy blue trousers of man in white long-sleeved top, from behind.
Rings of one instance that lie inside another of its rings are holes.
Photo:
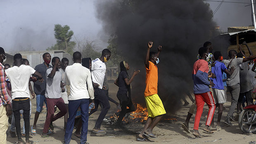
[[[69,100],[69,118],[66,124],[66,132],[64,136],[65,144],[70,143],[78,107],[81,108],[81,115],[83,120],[80,144],[84,144],[87,141],[89,99]]]

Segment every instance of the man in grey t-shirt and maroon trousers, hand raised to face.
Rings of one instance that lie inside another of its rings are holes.
[[[52,68],[46,70],[46,91],[45,99],[47,102],[47,117],[43,128],[41,137],[49,137],[48,135],[54,133],[48,130],[50,123],[56,121],[66,114],[66,105],[60,94],[61,90],[64,92],[64,87],[61,82],[62,72],[60,69],[60,60],[58,57],[52,58]],[[60,110],[58,114],[54,115],[54,106]]]

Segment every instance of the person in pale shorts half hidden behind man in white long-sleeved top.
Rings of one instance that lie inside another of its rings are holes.
[[[64,103],[66,105],[66,109],[67,109],[67,113],[64,115],[64,130],[66,130],[66,123],[68,121],[68,116],[69,116],[69,101],[68,101],[68,94],[67,94],[67,89],[66,89],[66,74],[65,74],[65,70],[66,67],[69,65],[69,59],[67,58],[62,58],[62,63],[60,65],[60,71],[62,72],[62,84],[64,85],[64,89],[65,91],[62,93],[60,93],[62,95],[62,99],[64,100]]]

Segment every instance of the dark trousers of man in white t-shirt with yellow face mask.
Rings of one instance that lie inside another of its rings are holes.
[[[94,97],[95,97],[94,98],[95,109],[92,109],[89,116],[91,114],[93,114],[95,111],[97,111],[99,104],[102,103],[102,109],[101,109],[100,115],[99,115],[99,117],[95,123],[95,126],[94,126],[94,128],[100,128],[104,117],[106,116],[107,112],[110,109],[110,104],[109,104],[109,99],[107,98],[105,91],[100,88],[95,88]]]

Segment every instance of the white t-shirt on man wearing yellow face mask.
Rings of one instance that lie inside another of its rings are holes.
[[[99,84],[102,89],[104,77],[106,72],[106,65],[99,58],[92,60],[92,81]]]

